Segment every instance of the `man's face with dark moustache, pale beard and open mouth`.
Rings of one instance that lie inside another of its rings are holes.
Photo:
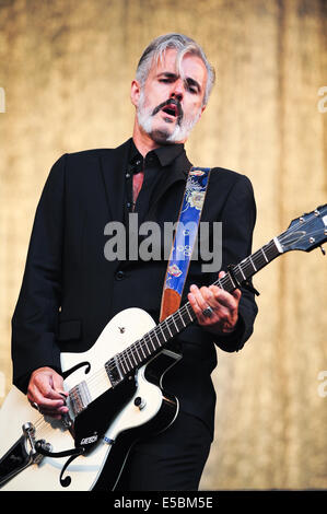
[[[152,63],[144,86],[132,84],[138,128],[159,144],[185,142],[205,109],[203,61],[186,54],[177,69],[176,55],[166,50],[162,60]]]

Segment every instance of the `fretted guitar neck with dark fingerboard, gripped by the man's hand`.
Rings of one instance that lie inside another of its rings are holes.
[[[278,238],[275,237],[255,254],[246,257],[238,265],[232,266],[229,272],[223,278],[217,280],[213,285],[219,285],[224,291],[231,293],[282,253],[283,249]],[[114,359],[110,359],[105,367],[112,383],[120,382],[131,371],[144,364],[195,319],[196,315],[189,302],[187,302],[174,314],[171,314],[166,319],[147,332],[141,339],[115,355]]]

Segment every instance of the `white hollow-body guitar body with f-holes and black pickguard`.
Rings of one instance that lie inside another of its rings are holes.
[[[43,417],[27,398],[12,387],[0,410],[0,482],[13,476],[2,490],[87,491],[113,490],[131,446],[149,433],[165,430],[176,418],[177,399],[161,388],[163,374],[180,358],[162,350],[148,364],[131,373],[115,387],[105,363],[155,326],[151,316],[139,308],[117,314],[104,328],[95,344],[84,353],[62,353],[62,371],[83,363],[65,379],[65,390],[86,382],[92,401],[78,416],[68,402],[73,429],[61,420]],[[35,427],[35,441],[45,440],[52,453],[83,446],[85,453],[65,466],[68,456],[45,456],[37,463],[28,459],[31,445],[22,437],[22,425]],[[109,457],[109,458],[108,458]],[[21,463],[20,463],[21,462]],[[25,468],[14,475],[20,465]],[[60,477],[61,471],[62,477]]]

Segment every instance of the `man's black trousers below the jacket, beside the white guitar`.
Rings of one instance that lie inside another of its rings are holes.
[[[115,491],[197,491],[211,442],[200,419],[179,411],[168,429],[133,446]]]

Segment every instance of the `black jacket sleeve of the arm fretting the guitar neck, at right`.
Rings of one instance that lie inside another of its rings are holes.
[[[224,203],[222,212],[222,270],[236,265],[252,254],[253,232],[256,222],[256,203],[250,180],[240,175]],[[215,340],[224,351],[238,351],[254,329],[258,312],[254,293],[241,288],[238,322],[234,332]]]

